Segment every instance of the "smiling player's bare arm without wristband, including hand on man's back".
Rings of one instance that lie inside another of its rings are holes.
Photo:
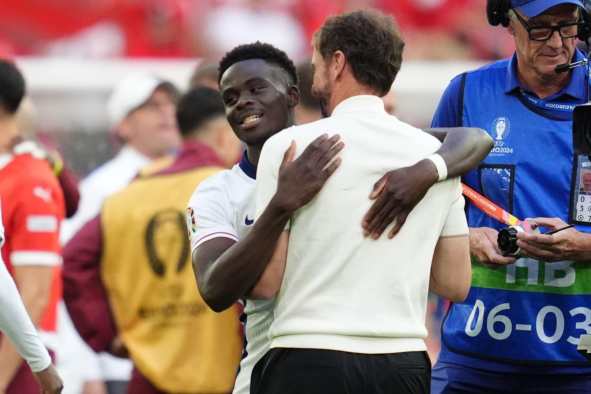
[[[284,269],[281,264],[285,262],[274,259],[273,264],[268,264],[272,253],[293,212],[314,198],[339,166],[339,158],[329,165],[345,146],[339,139],[339,135],[332,138],[322,135],[311,142],[296,160],[293,160],[296,151],[293,142],[285,151],[279,171],[280,181],[277,184],[275,180],[272,191],[272,202],[258,217],[248,235],[239,242],[217,237],[194,250],[193,269],[197,286],[212,310],[226,310],[241,297],[265,299],[277,293]],[[259,161],[259,169],[260,164]],[[261,285],[256,286],[259,279]]]

